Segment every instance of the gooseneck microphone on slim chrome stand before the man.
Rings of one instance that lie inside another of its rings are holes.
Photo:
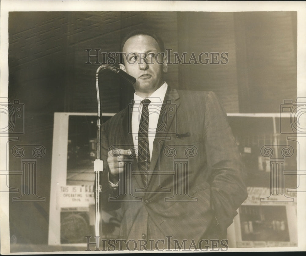
[[[101,155],[101,127],[102,127],[102,107],[99,92],[99,72],[105,69],[110,69],[116,74],[120,75],[122,78],[134,84],[136,79],[129,74],[125,73],[118,67],[114,67],[109,64],[103,64],[98,67],[95,75],[96,89],[97,89],[97,100],[98,100],[98,120],[97,120],[97,159],[94,162],[94,172],[95,172],[95,236],[98,236],[97,242],[100,238],[100,193],[102,191],[102,185],[100,184],[100,174],[103,172],[103,160]],[[99,245],[97,245],[99,246]],[[98,248],[98,247],[97,247]]]

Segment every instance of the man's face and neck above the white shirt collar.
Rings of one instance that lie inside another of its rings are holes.
[[[156,61],[155,55],[160,50],[153,37],[148,35],[132,36],[125,42],[123,52],[126,53],[126,59],[124,65],[120,64],[120,68],[136,78],[134,84],[136,94],[147,97],[162,86],[163,73],[167,72],[167,60],[162,54],[159,54],[158,61]],[[144,53],[147,54],[146,59],[144,59]],[[162,62],[164,63],[159,64]]]

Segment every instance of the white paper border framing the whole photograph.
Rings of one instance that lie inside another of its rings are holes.
[[[159,3],[160,2],[160,3]],[[162,2],[162,3],[161,3]],[[0,69],[1,90],[0,97],[8,97],[8,12],[9,11],[297,11],[297,95],[306,97],[306,2],[240,2],[240,1],[1,1],[1,46]],[[303,125],[306,117],[302,117]],[[8,123],[6,115],[1,115],[1,127]],[[305,125],[303,126],[305,127]],[[0,137],[0,170],[1,174],[7,174],[7,150],[8,137]],[[306,153],[306,145],[300,140],[300,150]],[[301,153],[302,153],[301,152]],[[305,154],[304,154],[305,155]],[[5,159],[5,161],[3,161]],[[306,170],[306,159],[300,162],[300,169]],[[0,175],[0,187],[6,186],[6,175]],[[9,194],[0,193],[0,231],[1,253],[10,254],[9,249]],[[306,193],[297,193],[298,211],[298,247],[273,247],[273,248],[232,248],[228,251],[291,251],[306,249]],[[37,252],[36,254],[38,254]],[[50,252],[58,254],[62,252]],[[86,253],[64,252],[64,253]],[[90,251],[88,253],[101,253]],[[102,252],[103,253],[103,252]],[[109,252],[107,252],[109,253]],[[115,252],[114,252],[115,253]],[[15,253],[11,253],[15,254]],[[17,254],[17,253],[16,253]],[[23,253],[33,254],[33,253]],[[47,254],[42,252],[41,254]]]

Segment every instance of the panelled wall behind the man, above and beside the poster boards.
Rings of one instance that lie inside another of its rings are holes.
[[[171,64],[165,80],[181,90],[214,91],[228,113],[279,113],[284,99],[296,98],[296,12],[10,12],[9,100],[24,104],[25,133],[9,149],[46,148],[36,163],[36,193],[46,201],[10,200],[10,234],[18,243],[48,240],[54,112],[97,111],[99,64],[85,64],[85,49],[118,52],[131,29],[159,34],[179,55],[227,52],[225,65]],[[100,75],[100,85],[103,112],[118,112],[133,94],[113,74]],[[21,170],[11,154],[9,170]],[[20,187],[20,178],[9,179],[11,187]]]

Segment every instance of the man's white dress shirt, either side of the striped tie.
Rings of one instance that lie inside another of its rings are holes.
[[[156,91],[154,91],[149,97],[146,97],[146,99],[149,99],[151,101],[151,103],[148,105],[148,110],[149,110],[148,139],[149,139],[150,159],[152,159],[153,141],[155,139],[157,122],[159,119],[162,102],[164,101],[167,88],[168,85],[166,82],[164,82],[163,85],[160,86]],[[134,147],[136,148],[138,148],[138,129],[139,129],[140,117],[143,106],[143,104],[141,104],[142,100],[144,100],[144,98],[134,93],[134,105],[132,108],[132,136],[133,136]]]

